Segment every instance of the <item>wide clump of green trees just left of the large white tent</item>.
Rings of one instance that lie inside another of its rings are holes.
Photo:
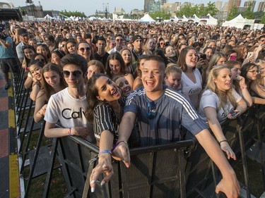
[[[211,16],[216,16],[216,14],[218,13],[218,9],[216,8],[215,3],[211,3],[211,1],[208,2],[207,6],[204,6],[204,4],[200,4],[199,6],[192,6],[191,4],[186,4],[180,9],[180,11],[176,13],[176,16],[192,17],[194,16],[194,14],[196,14],[196,16],[198,17],[204,17],[208,13],[210,13]]]

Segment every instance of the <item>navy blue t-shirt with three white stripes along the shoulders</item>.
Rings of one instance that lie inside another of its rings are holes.
[[[164,86],[163,95],[153,101],[153,118],[148,118],[148,103],[143,87],[132,92],[126,100],[124,113],[131,111],[136,114],[139,123],[141,146],[177,142],[180,139],[180,125],[196,135],[207,128],[197,115],[194,107],[176,90]]]

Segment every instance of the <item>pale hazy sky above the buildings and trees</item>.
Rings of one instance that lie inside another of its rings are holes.
[[[15,7],[18,6],[25,6],[25,0],[5,0],[12,2]],[[169,0],[169,3],[174,3],[178,0]],[[187,1],[191,1],[194,4],[207,4],[208,1],[206,0],[180,0],[178,2],[184,3]],[[223,2],[228,0],[223,0]],[[144,0],[33,0],[33,3],[37,6],[40,4],[42,5],[43,10],[55,10],[61,11],[64,9],[66,11],[81,11],[86,14],[86,16],[93,15],[96,10],[103,11],[103,7],[108,4],[109,11],[112,13],[114,8],[124,8],[126,13],[129,13],[132,9],[137,8],[139,10],[143,10]],[[211,2],[215,2],[215,0],[211,0]],[[244,0],[242,0],[241,5],[243,4]],[[259,0],[256,3],[258,4]],[[103,6],[104,4],[104,6]]]

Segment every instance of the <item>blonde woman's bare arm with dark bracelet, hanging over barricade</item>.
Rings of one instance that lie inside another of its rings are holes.
[[[213,131],[213,134],[216,136],[216,140],[220,142],[220,148],[226,152],[226,154],[228,155],[228,159],[230,159],[231,157],[235,160],[235,153],[232,151],[231,147],[228,144],[228,141],[225,139],[225,135],[223,135],[223,130],[217,119],[216,109],[208,106],[204,108],[204,113],[208,120],[208,124],[211,130]]]

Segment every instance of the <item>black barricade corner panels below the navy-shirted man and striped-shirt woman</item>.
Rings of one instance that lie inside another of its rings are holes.
[[[86,193],[88,197],[186,197],[185,168],[193,145],[193,140],[184,140],[131,149],[130,168],[114,161],[112,180],[104,187],[97,182],[96,191]],[[97,156],[98,147],[80,137],[61,137],[58,151],[70,195],[82,197],[86,176],[95,166],[88,162]]]

